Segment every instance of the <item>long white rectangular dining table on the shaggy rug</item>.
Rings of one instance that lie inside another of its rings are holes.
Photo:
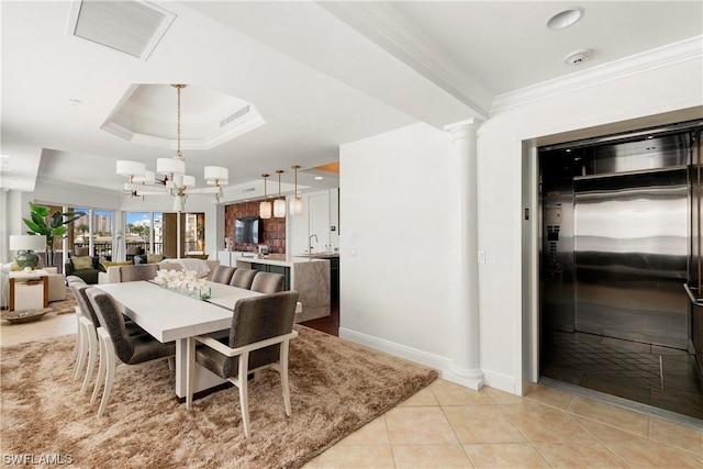
[[[176,395],[187,394],[188,337],[228,330],[234,304],[242,298],[261,293],[228,284],[209,282],[211,298],[198,300],[167,290],[149,281],[101,283],[100,290],[110,293],[124,306],[124,315],[163,343],[176,342]],[[210,370],[197,366],[194,392],[226,382]]]

